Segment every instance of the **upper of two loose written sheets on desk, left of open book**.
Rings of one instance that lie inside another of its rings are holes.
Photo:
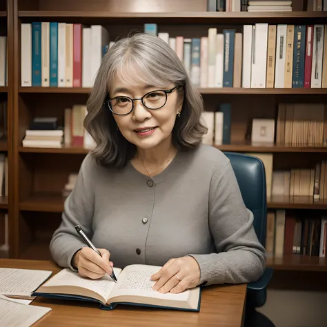
[[[0,268],[0,294],[30,297],[52,271]]]

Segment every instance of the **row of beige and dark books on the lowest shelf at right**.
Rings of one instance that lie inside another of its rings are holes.
[[[286,210],[268,211],[267,257],[309,255],[326,257],[327,216],[294,216]]]

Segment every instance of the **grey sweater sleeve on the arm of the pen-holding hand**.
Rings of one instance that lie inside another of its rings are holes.
[[[79,169],[74,189],[67,197],[62,214],[61,224],[54,231],[50,241],[50,252],[54,261],[61,267],[75,268],[71,260],[75,252],[85,246],[75,230],[77,224],[91,239],[92,218],[95,206],[95,169],[90,155],[86,156]]]

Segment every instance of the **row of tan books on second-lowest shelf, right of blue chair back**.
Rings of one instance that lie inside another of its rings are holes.
[[[272,167],[267,168],[271,172]],[[271,193],[273,197],[327,199],[327,161],[319,161],[310,169],[273,170]]]

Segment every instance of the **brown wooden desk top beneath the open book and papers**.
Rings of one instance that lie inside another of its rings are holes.
[[[2,268],[25,268],[52,270],[58,273],[61,268],[51,261],[0,259]],[[115,310],[100,310],[98,304],[83,301],[63,301],[37,297],[34,306],[46,306],[52,311],[41,318],[34,326],[242,326],[246,284],[236,286],[208,286],[201,296],[199,313],[177,310],[117,306]],[[33,326],[33,327],[34,327]]]

